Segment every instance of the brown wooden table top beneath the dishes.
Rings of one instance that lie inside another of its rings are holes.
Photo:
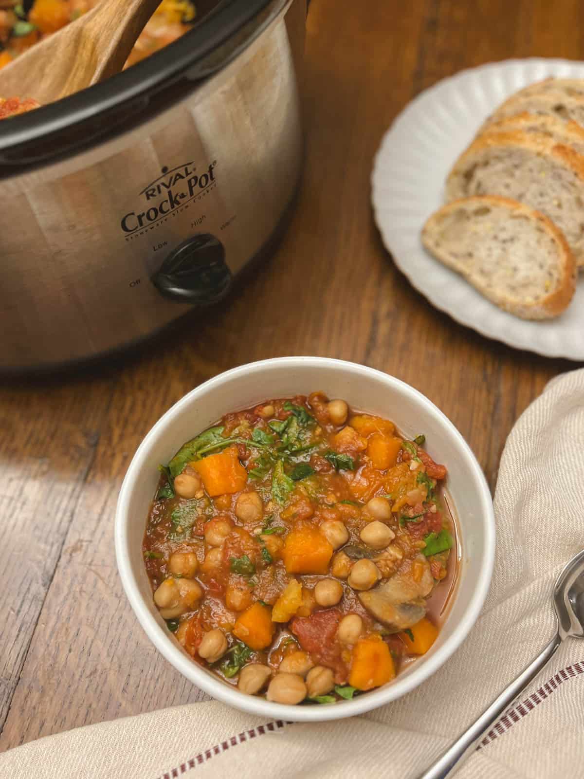
[[[234,365],[318,354],[409,382],[466,436],[494,487],[505,438],[572,364],[512,351],[435,311],[371,218],[371,160],[415,94],[508,57],[582,55],[584,9],[558,0],[312,0],[307,157],[276,256],[172,340],[0,390],[0,748],[203,694],[157,654],[121,590],[113,517],[142,436]]]

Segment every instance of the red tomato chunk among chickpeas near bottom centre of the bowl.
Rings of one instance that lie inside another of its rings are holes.
[[[315,663],[332,668],[337,684],[347,679],[347,665],[341,659],[341,647],[336,640],[340,617],[338,608],[327,608],[310,617],[294,617],[290,622],[302,649],[311,654]]]

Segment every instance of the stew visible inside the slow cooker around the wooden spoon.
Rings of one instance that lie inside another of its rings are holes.
[[[97,5],[99,0],[0,0],[0,68],[9,65],[38,41],[61,30]],[[192,0],[162,0],[146,24],[125,67],[164,48],[191,29]],[[33,96],[32,96],[33,97]],[[0,119],[38,108],[35,100],[0,97]]]

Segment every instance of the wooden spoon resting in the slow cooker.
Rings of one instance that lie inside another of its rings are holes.
[[[0,97],[52,103],[121,71],[160,0],[101,0],[0,69]]]

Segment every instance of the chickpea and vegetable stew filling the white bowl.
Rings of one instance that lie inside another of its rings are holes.
[[[242,693],[317,704],[425,654],[456,553],[424,440],[315,392],[185,443],[160,466],[143,555],[188,654]]]

